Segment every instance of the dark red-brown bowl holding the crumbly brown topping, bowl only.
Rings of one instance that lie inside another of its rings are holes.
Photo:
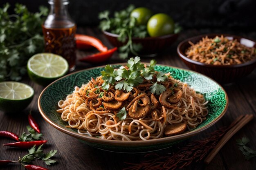
[[[191,46],[189,41],[196,44],[203,37],[208,36],[208,38],[215,38],[216,35],[224,35],[229,40],[237,39],[238,42],[247,46],[247,47],[256,47],[256,42],[254,40],[249,40],[247,38],[243,38],[236,35],[228,35],[228,34],[204,34],[198,35],[196,37],[192,37],[182,41],[177,47],[177,53],[179,54],[182,61],[193,71],[197,71],[204,75],[207,75],[213,79],[215,79],[219,83],[231,83],[237,79],[245,77],[249,75],[254,68],[256,68],[256,58],[252,61],[243,63],[243,64],[233,64],[233,65],[212,65],[212,64],[205,64],[202,62],[197,62],[191,60],[190,58],[186,57],[185,51],[186,49]]]

